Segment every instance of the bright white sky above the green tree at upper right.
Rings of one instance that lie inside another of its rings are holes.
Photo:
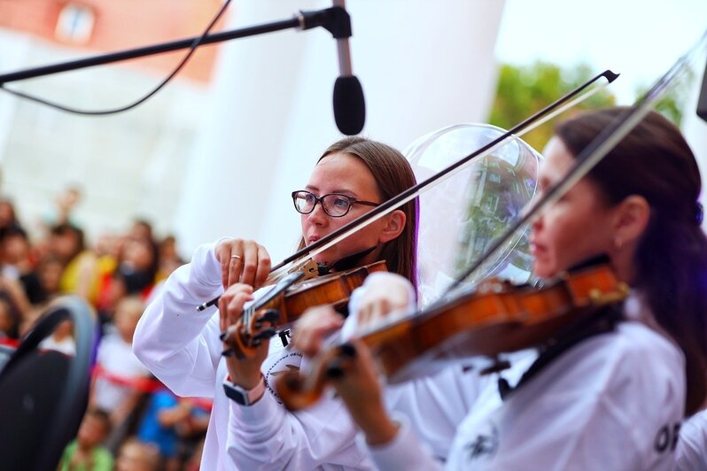
[[[611,69],[618,104],[631,104],[705,30],[707,0],[506,0],[496,57]]]

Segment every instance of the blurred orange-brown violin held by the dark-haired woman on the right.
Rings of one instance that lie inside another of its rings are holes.
[[[582,266],[540,289],[489,279],[478,289],[422,313],[374,326],[360,338],[388,382],[401,382],[431,374],[452,359],[495,358],[547,343],[563,328],[627,294],[628,287],[608,264]],[[313,404],[321,397],[329,372],[342,357],[353,354],[349,344],[323,351],[313,359],[309,375],[287,372],[278,377],[277,394],[291,411]]]

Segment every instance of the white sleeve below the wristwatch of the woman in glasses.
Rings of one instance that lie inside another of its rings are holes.
[[[250,406],[230,401],[227,451],[238,469],[358,468],[368,463],[355,443],[357,429],[343,403],[322,398],[290,413],[266,391]]]

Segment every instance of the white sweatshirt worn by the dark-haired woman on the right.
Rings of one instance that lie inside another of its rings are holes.
[[[502,375],[515,384],[531,363],[522,358]],[[457,428],[445,469],[670,470],[684,402],[680,349],[640,322],[622,322],[505,401],[488,386]],[[391,444],[369,450],[377,467],[439,469],[400,422]]]

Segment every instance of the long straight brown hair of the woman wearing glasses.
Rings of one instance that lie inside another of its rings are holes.
[[[360,158],[373,174],[384,202],[416,184],[408,160],[384,143],[359,136],[345,137],[331,144],[319,160],[334,153]],[[417,198],[400,206],[400,210],[405,213],[405,228],[398,237],[385,243],[380,259],[385,259],[389,271],[405,276],[417,288]],[[304,240],[300,241],[299,248],[304,245]]]

